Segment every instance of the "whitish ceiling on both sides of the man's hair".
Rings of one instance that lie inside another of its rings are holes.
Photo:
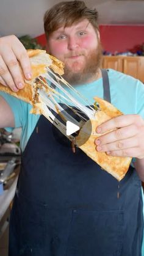
[[[0,36],[43,34],[43,15],[59,0],[1,0]],[[144,0],[85,0],[99,12],[100,24],[143,24]]]

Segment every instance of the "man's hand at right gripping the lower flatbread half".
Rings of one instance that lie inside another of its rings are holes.
[[[101,134],[95,140],[97,151],[112,156],[144,158],[144,120],[140,115],[113,117],[99,125],[96,133]]]

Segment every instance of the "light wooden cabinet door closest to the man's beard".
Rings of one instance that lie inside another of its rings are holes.
[[[103,68],[112,68],[117,71],[123,71],[123,57],[120,56],[104,56]]]

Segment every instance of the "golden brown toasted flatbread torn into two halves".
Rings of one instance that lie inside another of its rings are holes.
[[[9,87],[5,87],[0,84],[0,90],[10,95],[13,95],[16,98],[20,98],[27,103],[32,104],[32,113],[33,114],[43,114],[45,117],[49,119],[47,108],[45,108],[45,104],[43,100],[41,100],[38,94],[38,87],[40,84],[35,82],[35,79],[38,76],[45,76],[47,74],[46,68],[51,68],[55,73],[59,75],[63,75],[63,62],[57,60],[55,57],[46,53],[46,51],[35,49],[35,50],[28,50],[27,51],[31,60],[32,65],[32,73],[33,77],[31,81],[25,81],[25,87],[18,92],[13,92]],[[63,80],[65,83],[66,81]],[[66,82],[67,84],[67,82]],[[45,83],[41,84],[43,88],[45,87]],[[49,87],[44,88],[48,95]],[[97,111],[95,114],[95,119],[90,120],[82,126],[79,135],[76,138],[76,144],[82,151],[84,151],[90,158],[93,159],[96,163],[99,164],[104,170],[112,174],[113,177],[117,178],[120,181],[126,172],[128,171],[129,164],[131,163],[131,158],[128,157],[115,157],[115,156],[108,156],[104,152],[96,152],[96,146],[94,141],[96,137],[100,136],[101,134],[96,133],[96,127],[103,122],[111,119],[112,117],[117,117],[118,115],[122,115],[117,108],[112,106],[112,104],[108,103],[107,101],[102,100],[101,98],[95,97],[95,101],[99,104],[101,111]],[[60,111],[58,109],[57,113],[59,114]],[[91,129],[92,126],[92,129]],[[89,139],[85,142],[85,136],[88,133],[90,134]],[[61,130],[62,131],[62,130]],[[82,143],[84,141],[84,143]]]

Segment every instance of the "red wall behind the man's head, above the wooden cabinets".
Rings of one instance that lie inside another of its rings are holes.
[[[144,43],[144,25],[100,25],[99,31],[103,49],[110,53],[121,53]],[[45,46],[45,35],[37,37],[38,43]]]

